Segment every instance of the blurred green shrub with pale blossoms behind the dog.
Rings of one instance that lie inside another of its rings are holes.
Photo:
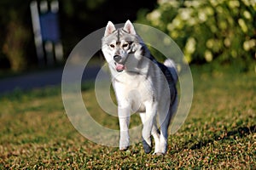
[[[158,4],[151,13],[140,11],[137,21],[165,31],[189,63],[256,59],[256,0],[159,0]]]

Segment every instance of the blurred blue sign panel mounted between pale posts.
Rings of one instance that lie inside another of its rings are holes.
[[[61,37],[57,14],[48,12],[39,18],[43,41],[59,42]]]

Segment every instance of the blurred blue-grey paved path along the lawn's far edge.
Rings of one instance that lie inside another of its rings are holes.
[[[99,70],[99,66],[86,68],[86,75],[83,76],[83,81],[94,79]],[[63,68],[0,79],[0,94],[6,94],[15,89],[27,90],[61,84],[62,71]]]

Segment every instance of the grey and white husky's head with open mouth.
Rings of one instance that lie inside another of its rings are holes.
[[[127,70],[128,63],[131,65],[132,60],[134,60],[132,58],[139,57],[135,53],[141,48],[141,43],[142,40],[137,36],[130,20],[125,22],[123,28],[118,29],[111,21],[108,21],[102,38],[102,52],[108,65],[121,72]]]

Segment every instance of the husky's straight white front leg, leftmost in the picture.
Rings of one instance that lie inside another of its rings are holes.
[[[129,137],[130,108],[119,107],[118,112],[119,112],[119,127],[120,127],[119,150],[127,150],[130,145],[130,137]]]

